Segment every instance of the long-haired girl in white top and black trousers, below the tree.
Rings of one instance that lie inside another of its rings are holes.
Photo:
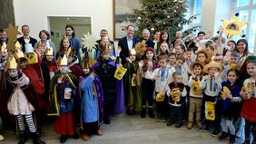
[[[154,61],[153,48],[148,47],[146,50],[146,58],[144,61],[139,62],[139,71],[137,76],[139,78],[143,77],[142,80],[142,90],[143,90],[143,111],[141,117],[146,117],[146,101],[149,101],[149,111],[148,114],[150,118],[154,119],[153,115],[153,80],[152,74],[154,69],[158,68],[158,63]]]

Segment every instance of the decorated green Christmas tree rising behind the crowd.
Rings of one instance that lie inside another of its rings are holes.
[[[167,30],[171,40],[175,40],[177,30],[182,30],[183,25],[192,23],[195,15],[186,19],[187,4],[185,0],[139,0],[142,7],[133,9],[137,18],[135,25],[138,27],[137,36],[141,36],[143,29]]]

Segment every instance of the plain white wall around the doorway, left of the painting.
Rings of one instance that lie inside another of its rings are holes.
[[[36,39],[39,31],[49,30],[47,16],[92,16],[96,38],[104,28],[113,38],[113,0],[14,0],[15,24],[28,24]]]

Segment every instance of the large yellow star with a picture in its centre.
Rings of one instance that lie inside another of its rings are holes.
[[[233,16],[231,20],[222,20],[224,34],[227,35],[228,39],[232,37],[232,35],[241,35],[241,28],[246,25],[246,22],[238,21],[237,16]]]

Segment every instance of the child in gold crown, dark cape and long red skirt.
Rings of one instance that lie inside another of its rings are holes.
[[[54,122],[54,130],[61,135],[64,143],[68,136],[79,139],[74,126],[74,96],[76,79],[68,72],[67,58],[64,55],[59,60],[59,72],[55,73],[50,84],[50,111],[48,116],[59,116]]]

